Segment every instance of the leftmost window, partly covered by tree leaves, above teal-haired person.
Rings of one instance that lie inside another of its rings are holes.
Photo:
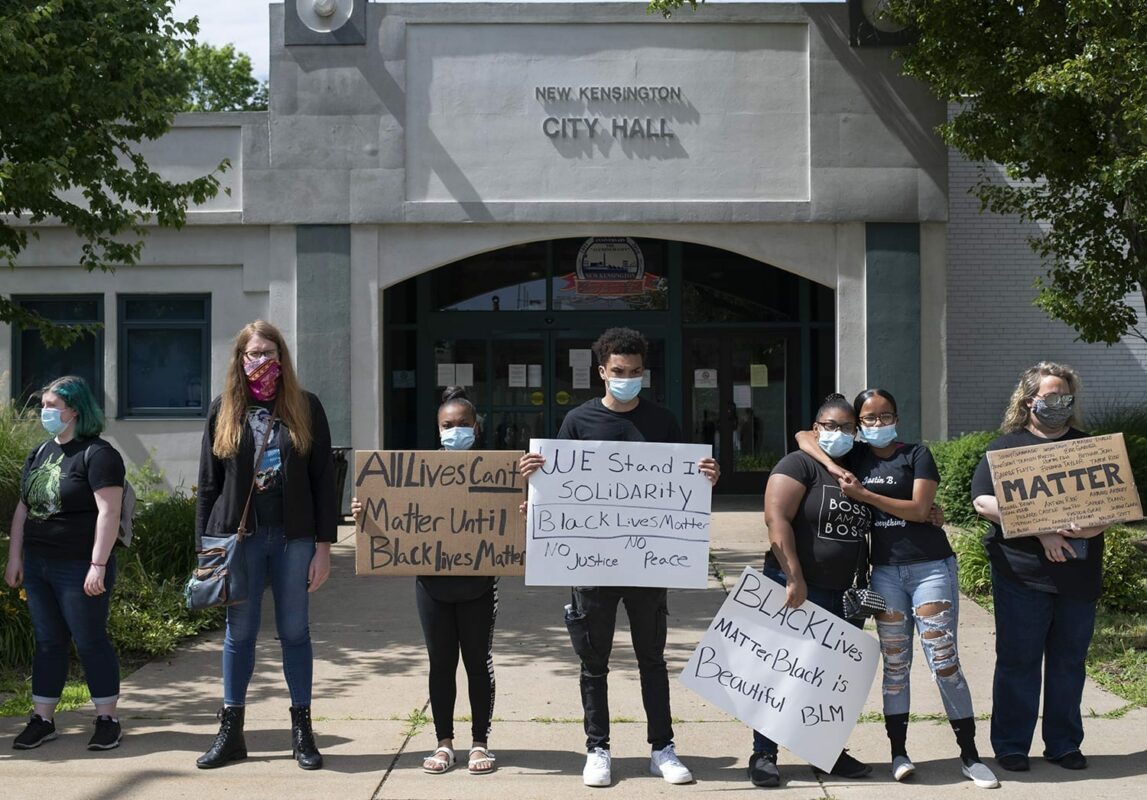
[[[34,311],[53,323],[100,325],[67,348],[49,348],[34,329],[14,327],[11,333],[11,397],[23,406],[45,385],[62,375],[79,375],[92,387],[103,405],[103,296],[53,295],[14,296],[17,305]]]

